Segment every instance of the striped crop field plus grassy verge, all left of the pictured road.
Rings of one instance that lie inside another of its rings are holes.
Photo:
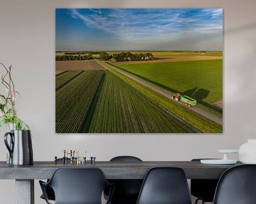
[[[221,125],[112,69],[56,75],[56,84],[63,83],[56,90],[57,133],[222,132]]]

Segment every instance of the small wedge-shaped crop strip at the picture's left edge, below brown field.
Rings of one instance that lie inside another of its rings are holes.
[[[79,74],[82,74],[82,71],[68,71],[64,74],[60,74],[55,77],[55,90],[58,91],[61,89],[65,84],[78,77]]]

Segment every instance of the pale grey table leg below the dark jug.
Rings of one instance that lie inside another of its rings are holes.
[[[35,204],[34,180],[16,179],[16,204]]]

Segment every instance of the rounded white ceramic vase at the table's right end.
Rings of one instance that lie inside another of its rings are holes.
[[[256,139],[247,140],[240,146],[239,160],[243,164],[256,164]]]

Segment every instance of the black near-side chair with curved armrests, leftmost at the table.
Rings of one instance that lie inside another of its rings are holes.
[[[57,169],[50,181],[39,183],[49,204],[46,186],[53,188],[55,204],[102,204],[102,192],[108,186],[113,187],[100,169]],[[110,198],[113,189],[110,188]]]

